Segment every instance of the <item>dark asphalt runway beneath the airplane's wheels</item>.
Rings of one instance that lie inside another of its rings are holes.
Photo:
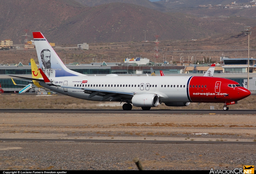
[[[151,109],[149,111],[118,109],[0,109],[0,113],[92,113],[92,114],[256,114],[256,110],[189,110]],[[120,115],[121,116],[121,115]]]

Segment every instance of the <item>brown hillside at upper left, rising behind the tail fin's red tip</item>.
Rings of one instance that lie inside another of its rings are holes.
[[[62,22],[79,15],[85,7],[76,1],[7,0],[0,5],[0,39],[12,39],[23,44],[25,29],[33,31],[55,30]],[[50,37],[46,34],[46,37]],[[33,37],[28,37],[28,40]]]

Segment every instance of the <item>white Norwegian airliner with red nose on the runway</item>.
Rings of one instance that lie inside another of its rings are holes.
[[[123,110],[131,110],[132,105],[150,110],[159,103],[188,106],[190,102],[224,103],[223,109],[228,110],[228,105],[236,104],[251,94],[237,82],[211,77],[211,74],[209,77],[86,76],[68,69],[41,32],[33,32],[33,36],[43,78],[30,79],[68,96],[93,101],[125,102]]]

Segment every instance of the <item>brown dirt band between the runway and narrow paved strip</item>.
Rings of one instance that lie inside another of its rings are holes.
[[[256,141],[256,115],[0,113],[1,138]]]

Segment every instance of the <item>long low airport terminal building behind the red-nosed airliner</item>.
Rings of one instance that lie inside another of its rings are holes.
[[[243,83],[247,83],[247,60],[244,58],[230,59],[229,57],[220,57],[222,64],[216,64],[214,76],[228,78],[238,82],[241,86]],[[142,62],[142,61],[141,61]],[[149,60],[144,61],[145,64],[130,63],[91,63],[91,64],[66,64],[67,68],[79,72],[85,75],[106,75],[106,74],[118,74],[118,75],[150,75],[150,68],[153,68],[156,75],[160,75],[160,70],[166,76],[203,76],[210,65],[208,64],[154,64]],[[148,63],[147,63],[148,62]],[[152,64],[151,64],[152,63]],[[256,90],[256,59],[250,59],[249,61],[249,72],[250,72],[250,89]],[[128,66],[127,66],[128,65]],[[0,83],[2,89],[5,92],[18,92],[24,86],[30,82],[26,79],[18,79],[13,77],[14,81],[18,85],[14,85],[12,79],[8,75],[17,75],[21,77],[32,77],[31,66],[19,64],[12,65],[1,65],[0,66]]]

